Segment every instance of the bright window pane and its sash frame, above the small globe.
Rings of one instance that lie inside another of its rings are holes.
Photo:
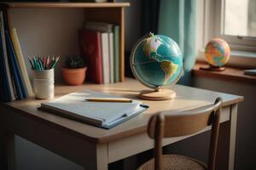
[[[218,0],[216,35],[238,50],[256,51],[256,1]]]

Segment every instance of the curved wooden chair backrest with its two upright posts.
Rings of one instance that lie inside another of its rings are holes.
[[[152,116],[148,122],[148,136],[154,139],[154,169],[161,169],[162,139],[185,136],[201,131],[212,125],[210,149],[207,168],[215,168],[215,156],[218,144],[219,117],[222,99],[217,98],[214,105],[208,105],[196,110],[178,113],[160,112]]]

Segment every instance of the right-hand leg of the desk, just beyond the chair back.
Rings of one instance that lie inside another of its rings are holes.
[[[221,123],[218,136],[216,169],[234,169],[237,105],[230,106],[230,121]]]

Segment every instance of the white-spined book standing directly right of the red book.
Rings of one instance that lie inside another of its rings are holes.
[[[108,32],[102,32],[102,67],[103,67],[103,82],[110,82],[109,68],[109,48],[108,48]]]

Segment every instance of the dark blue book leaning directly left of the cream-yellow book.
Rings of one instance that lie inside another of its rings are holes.
[[[18,99],[25,99],[27,97],[25,83],[22,80],[20,66],[18,64],[16,55],[15,55],[15,49],[9,37],[8,31],[5,31],[5,37],[6,37],[6,48],[9,54],[9,65],[10,65],[12,76],[14,78],[16,93],[17,93]]]

